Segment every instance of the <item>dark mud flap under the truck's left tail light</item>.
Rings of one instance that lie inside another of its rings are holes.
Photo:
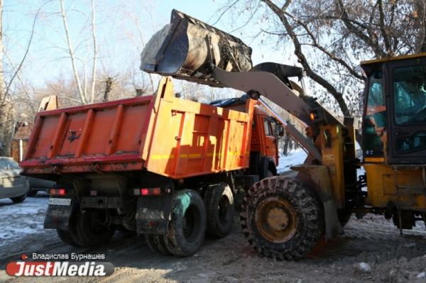
[[[48,211],[46,212],[44,228],[62,229],[67,231],[74,205],[74,199],[71,200],[70,205],[49,204]]]

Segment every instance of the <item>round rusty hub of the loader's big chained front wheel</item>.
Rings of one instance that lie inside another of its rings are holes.
[[[255,221],[263,238],[273,243],[285,243],[297,232],[295,208],[282,197],[263,199],[256,209]]]

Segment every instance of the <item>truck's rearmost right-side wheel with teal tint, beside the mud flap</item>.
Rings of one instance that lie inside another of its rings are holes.
[[[170,253],[189,257],[197,252],[206,232],[206,209],[200,194],[192,189],[178,191],[173,196],[171,220],[165,245]]]

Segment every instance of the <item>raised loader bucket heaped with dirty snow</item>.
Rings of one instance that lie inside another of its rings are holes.
[[[155,33],[141,53],[141,70],[223,87],[210,77],[213,66],[228,72],[249,71],[251,48],[177,10],[172,11],[170,24]]]

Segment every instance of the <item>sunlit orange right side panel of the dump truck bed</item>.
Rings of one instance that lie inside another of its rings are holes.
[[[253,101],[246,112],[165,97],[147,169],[174,179],[249,167]]]

